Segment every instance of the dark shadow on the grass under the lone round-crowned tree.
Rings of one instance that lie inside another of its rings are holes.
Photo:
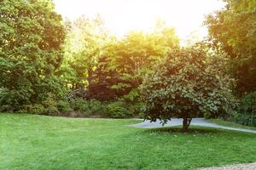
[[[150,128],[147,130],[148,133],[184,133],[181,126],[178,127],[159,127],[159,128]],[[206,134],[206,133],[224,133],[224,130],[212,127],[189,127],[189,132],[191,134]]]

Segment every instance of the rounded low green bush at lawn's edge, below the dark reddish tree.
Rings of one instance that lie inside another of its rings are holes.
[[[122,101],[116,101],[108,104],[108,116],[112,118],[125,118],[132,116],[132,112],[125,107],[125,103]]]

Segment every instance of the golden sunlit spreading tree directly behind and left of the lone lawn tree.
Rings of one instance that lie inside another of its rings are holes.
[[[113,41],[104,53],[110,62],[109,69],[119,76],[116,79],[119,82],[112,88],[122,91],[121,96],[129,94],[138,88],[155,62],[163,59],[170,49],[178,47],[174,29],[167,27],[157,27],[151,33],[131,31],[123,39]]]

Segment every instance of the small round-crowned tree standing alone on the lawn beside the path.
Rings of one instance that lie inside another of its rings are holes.
[[[143,80],[145,119],[164,124],[172,117],[183,118],[183,132],[188,132],[193,117],[218,114],[236,103],[232,87],[223,54],[201,46],[172,50]]]

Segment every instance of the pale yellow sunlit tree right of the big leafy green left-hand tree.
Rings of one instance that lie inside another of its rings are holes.
[[[99,15],[92,20],[84,15],[74,22],[67,20],[66,28],[64,64],[73,70],[67,82],[73,89],[85,88],[92,81],[92,71],[109,41],[108,31]]]

